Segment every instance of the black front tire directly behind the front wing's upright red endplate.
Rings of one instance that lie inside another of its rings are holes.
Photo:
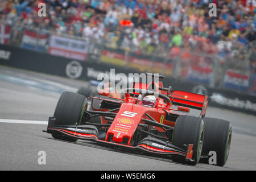
[[[178,163],[185,163],[189,165],[196,165],[199,163],[204,141],[204,122],[202,118],[180,115],[174,127],[172,134],[172,144],[179,148],[187,150],[184,144],[193,144],[193,155],[191,160],[185,160],[185,156],[172,155],[172,161]]]

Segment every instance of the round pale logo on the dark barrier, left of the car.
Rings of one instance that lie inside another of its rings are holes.
[[[66,75],[69,78],[79,78],[82,75],[82,65],[77,61],[71,61],[67,64]]]

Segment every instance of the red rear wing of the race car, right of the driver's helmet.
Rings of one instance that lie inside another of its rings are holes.
[[[208,105],[208,96],[180,90],[173,90],[170,96],[172,104],[201,110],[201,115],[204,117]]]

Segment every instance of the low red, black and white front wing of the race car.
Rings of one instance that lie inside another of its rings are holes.
[[[98,137],[98,131],[95,126],[92,125],[65,125],[65,126],[54,126],[55,119],[49,117],[47,133],[57,132],[72,138],[81,140],[90,140],[100,144],[107,144],[115,148],[122,148],[126,150],[139,151],[147,154],[154,155],[180,155],[184,156],[185,160],[191,160],[193,155],[193,144],[186,144],[187,150],[176,147],[171,143],[164,142],[152,137],[144,138],[137,146],[128,146],[127,144],[109,142]]]

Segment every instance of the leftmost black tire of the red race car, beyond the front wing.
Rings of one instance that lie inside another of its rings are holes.
[[[82,114],[87,109],[87,100],[85,96],[73,92],[63,92],[57,102],[53,117],[54,126],[60,125],[80,125]],[[53,132],[52,137],[63,139],[70,142],[76,142],[76,138],[65,136],[58,132]]]

